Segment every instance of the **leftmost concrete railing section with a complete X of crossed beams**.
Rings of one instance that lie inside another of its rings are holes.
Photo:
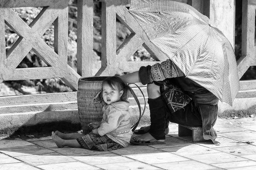
[[[11,9],[25,6],[44,6],[29,25]],[[8,52],[5,52],[3,40],[1,42],[0,81],[61,78],[76,91],[80,76],[67,64],[68,0],[27,0],[26,4],[15,0],[4,1],[1,2],[0,18],[1,35],[5,34],[4,23],[19,35]],[[55,26],[54,50],[41,39],[52,23]],[[47,67],[17,69],[31,49]]]

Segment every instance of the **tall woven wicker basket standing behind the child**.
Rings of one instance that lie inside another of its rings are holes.
[[[80,78],[78,81],[77,106],[84,134],[91,132],[88,124],[102,120],[103,103],[95,103],[94,97],[102,90],[102,81],[108,77]]]

